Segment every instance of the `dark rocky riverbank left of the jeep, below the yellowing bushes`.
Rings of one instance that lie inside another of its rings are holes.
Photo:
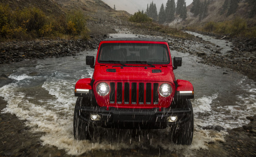
[[[12,41],[0,43],[0,64],[12,63],[27,59],[44,59],[47,57],[75,56],[81,51],[95,49],[100,40],[40,39],[37,41]]]

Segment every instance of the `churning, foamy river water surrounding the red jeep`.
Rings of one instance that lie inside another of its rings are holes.
[[[200,64],[199,58],[189,54],[171,51],[172,57],[182,57],[182,66],[174,70],[176,79],[189,80],[194,85],[195,124],[190,146],[174,145],[168,138],[168,129],[143,130],[137,136],[132,136],[132,130],[102,129],[100,142],[77,141],[73,137],[74,87],[77,80],[92,77],[94,69],[85,64],[85,57],[96,53],[97,50],[84,51],[75,57],[0,65],[0,75],[10,75],[10,80],[0,82],[0,96],[7,101],[1,114],[11,113],[26,120],[31,133],[42,134],[42,145],[56,146],[69,155],[139,148],[193,156],[195,150],[207,149],[207,143],[224,141],[226,129],[249,123],[246,116],[256,112],[255,82],[229,69]],[[204,130],[205,126],[221,126],[225,130]]]

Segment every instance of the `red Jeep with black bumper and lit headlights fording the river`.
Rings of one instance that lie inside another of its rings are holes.
[[[176,144],[191,145],[194,88],[176,80],[173,70],[181,58],[171,54],[162,39],[112,38],[99,43],[91,78],[77,81],[74,111],[75,139],[91,139],[95,126],[163,129],[171,127]]]

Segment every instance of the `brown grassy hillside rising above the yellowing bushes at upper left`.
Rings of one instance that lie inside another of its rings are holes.
[[[72,10],[81,10],[86,17],[90,36],[103,36],[115,32],[111,25],[127,21],[129,13],[116,11],[101,0],[0,0],[12,10],[36,7],[47,17],[60,17]],[[113,24],[114,23],[114,24]]]

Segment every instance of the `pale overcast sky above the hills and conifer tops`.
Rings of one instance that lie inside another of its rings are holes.
[[[138,10],[146,10],[147,4],[150,4],[152,0],[102,0],[103,2],[107,3],[110,7],[114,8],[114,5],[117,10],[125,10],[130,14],[134,14]],[[185,0],[186,5],[190,5],[193,0]],[[167,0],[153,0],[153,2],[157,5],[157,12],[159,12],[162,3],[164,7],[166,5]],[[177,0],[175,0],[177,2]]]

